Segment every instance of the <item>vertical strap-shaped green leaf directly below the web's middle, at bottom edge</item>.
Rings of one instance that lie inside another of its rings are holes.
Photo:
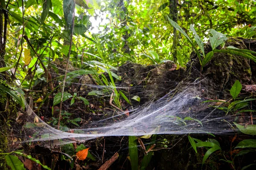
[[[135,136],[129,136],[129,156],[131,159],[131,170],[138,170],[139,156]]]

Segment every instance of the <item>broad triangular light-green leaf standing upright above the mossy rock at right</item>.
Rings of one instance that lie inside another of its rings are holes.
[[[227,37],[225,34],[222,34],[220,32],[215,31],[214,29],[207,30],[212,36],[209,36],[209,40],[212,46],[212,50],[214,50],[216,47],[221,45],[221,43],[225,42],[227,40]]]

